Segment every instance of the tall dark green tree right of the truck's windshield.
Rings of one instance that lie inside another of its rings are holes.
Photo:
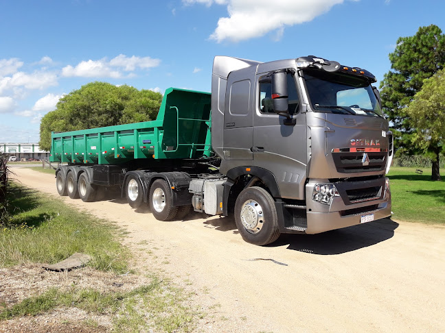
[[[413,153],[407,106],[422,88],[424,79],[444,68],[445,35],[437,25],[420,27],[414,36],[398,38],[389,60],[391,70],[380,84],[383,111],[391,121],[398,154]]]

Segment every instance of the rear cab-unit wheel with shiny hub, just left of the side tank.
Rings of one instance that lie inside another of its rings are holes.
[[[172,206],[171,190],[164,180],[155,180],[150,187],[150,208],[159,221],[172,221],[178,207]]]

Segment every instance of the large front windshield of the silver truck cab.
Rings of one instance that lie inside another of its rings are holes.
[[[312,69],[304,71],[304,79],[315,112],[383,116],[366,79]]]

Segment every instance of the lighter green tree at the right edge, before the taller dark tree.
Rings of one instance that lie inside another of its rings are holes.
[[[415,129],[411,141],[431,156],[431,180],[440,180],[439,156],[445,146],[445,70],[424,80],[406,112]]]

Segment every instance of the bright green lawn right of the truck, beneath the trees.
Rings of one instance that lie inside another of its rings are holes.
[[[416,169],[392,167],[389,171],[393,218],[445,225],[445,182],[431,181],[431,168],[421,168],[422,175]]]

